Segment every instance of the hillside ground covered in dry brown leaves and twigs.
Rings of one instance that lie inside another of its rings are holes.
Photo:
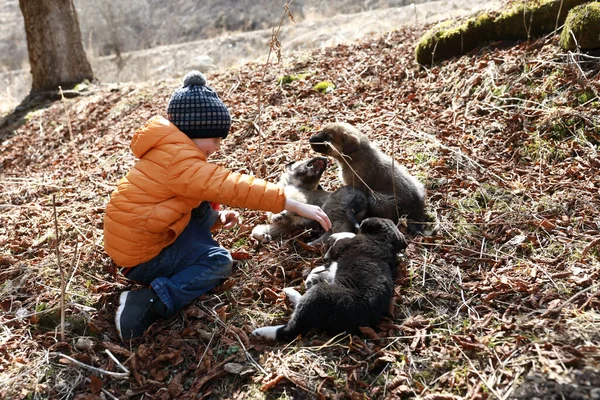
[[[241,227],[218,234],[237,259],[231,278],[119,343],[114,301],[132,285],[103,252],[104,207],[134,162],[133,131],[164,114],[179,82],[94,86],[30,113],[0,144],[0,397],[598,398],[599,60],[549,37],[425,69],[413,60],[421,33],[209,76],[234,117],[218,163],[275,181],[340,120],[427,184],[442,229],[411,238],[390,318],[360,336],[249,337],[286,320],[281,289],[303,290],[321,260],[306,235],[256,243],[265,216],[243,210]],[[298,73],[309,75],[277,84]],[[321,81],[335,90],[313,90]],[[335,168],[324,182],[339,185]]]

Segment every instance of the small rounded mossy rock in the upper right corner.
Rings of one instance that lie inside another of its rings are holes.
[[[600,49],[600,2],[583,4],[569,11],[560,34],[560,45],[565,50],[574,50],[577,46],[583,50]]]

